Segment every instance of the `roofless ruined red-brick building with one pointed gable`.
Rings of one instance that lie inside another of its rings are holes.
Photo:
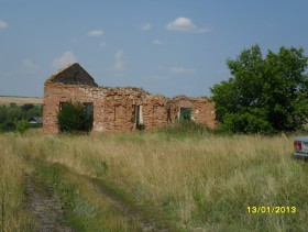
[[[206,97],[173,99],[150,95],[135,87],[99,87],[79,65],[73,64],[51,76],[44,85],[44,133],[56,134],[57,112],[65,102],[82,102],[94,112],[92,131],[133,131],[160,128],[178,120],[216,125],[213,103]]]

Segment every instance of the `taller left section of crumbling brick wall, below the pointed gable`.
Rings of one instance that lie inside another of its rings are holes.
[[[90,87],[46,81],[44,87],[45,133],[58,133],[57,112],[61,102],[94,103],[94,131],[132,131],[135,129],[135,106],[145,99],[138,88]]]

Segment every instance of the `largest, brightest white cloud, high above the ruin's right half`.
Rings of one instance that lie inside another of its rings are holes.
[[[175,21],[168,23],[166,29],[169,31],[177,31],[177,32],[195,32],[195,33],[206,33],[210,32],[210,26],[197,26],[193,23],[193,21],[188,18],[177,18]]]

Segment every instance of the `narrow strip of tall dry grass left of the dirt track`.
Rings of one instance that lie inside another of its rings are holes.
[[[33,220],[26,209],[24,187],[26,166],[7,143],[14,142],[0,135],[0,230],[31,231]]]

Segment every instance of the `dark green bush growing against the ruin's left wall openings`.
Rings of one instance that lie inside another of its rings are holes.
[[[92,129],[94,117],[87,114],[80,102],[66,102],[57,113],[57,124],[61,132],[89,132]]]

